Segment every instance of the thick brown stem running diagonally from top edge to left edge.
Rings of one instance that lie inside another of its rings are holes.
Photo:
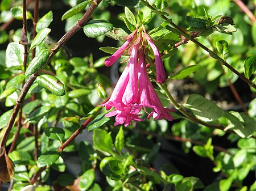
[[[57,53],[57,51],[68,41],[68,39],[71,38],[71,36],[75,35],[77,31],[79,31],[85,24],[88,22],[90,16],[92,16],[93,11],[97,8],[98,4],[101,2],[101,0],[94,0],[93,4],[89,7],[89,9],[85,12],[84,16],[77,22],[77,24],[72,27],[65,35],[56,43],[56,45],[52,48],[52,52],[47,60],[47,63],[52,59],[52,57]],[[10,120],[6,126],[5,133],[3,134],[3,138],[1,141],[2,147],[6,145],[7,138],[10,134],[11,128],[13,127],[15,118],[18,114],[20,105],[23,103],[25,96],[27,95],[27,92],[29,88],[32,86],[32,83],[35,81],[36,77],[40,74],[42,69],[35,72],[35,74],[32,74],[30,78],[27,80],[27,82],[24,84],[24,87],[22,88],[22,91],[20,92],[20,95],[18,99],[16,100],[16,103],[14,105],[13,113],[11,113]]]

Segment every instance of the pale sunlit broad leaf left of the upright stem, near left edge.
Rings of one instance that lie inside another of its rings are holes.
[[[23,65],[24,47],[19,43],[9,43],[6,49],[6,67]]]

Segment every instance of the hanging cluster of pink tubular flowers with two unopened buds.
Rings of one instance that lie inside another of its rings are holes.
[[[129,62],[119,78],[110,99],[102,104],[107,110],[114,107],[114,110],[107,113],[106,117],[115,116],[115,124],[125,126],[130,125],[131,121],[143,121],[141,116],[142,109],[151,108],[151,116],[154,120],[173,118],[170,111],[172,109],[164,108],[155,92],[152,83],[147,75],[145,49],[150,45],[155,56],[156,81],[164,83],[166,75],[163,62],[151,37],[145,29],[143,32],[136,29],[126,37],[126,42],[111,57],[105,60],[106,66],[112,66],[115,61],[126,51],[130,55]]]

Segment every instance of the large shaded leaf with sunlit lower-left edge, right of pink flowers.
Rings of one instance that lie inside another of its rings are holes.
[[[202,121],[217,120],[224,115],[224,111],[221,108],[198,94],[189,95],[185,107],[191,109],[193,114]]]

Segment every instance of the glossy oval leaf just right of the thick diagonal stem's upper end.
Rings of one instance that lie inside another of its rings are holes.
[[[104,35],[106,32],[113,29],[113,24],[106,20],[94,19],[90,20],[84,26],[84,33],[86,36],[91,38],[96,38],[98,36]]]

